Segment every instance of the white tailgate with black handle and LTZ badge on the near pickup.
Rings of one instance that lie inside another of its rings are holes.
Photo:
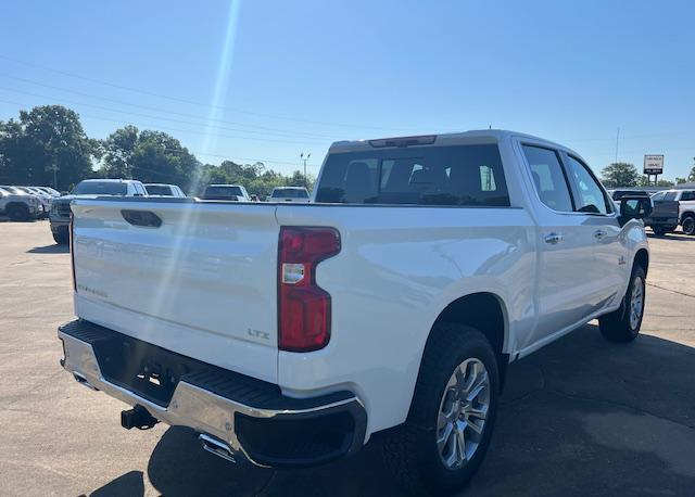
[[[274,205],[77,200],[72,208],[78,317],[277,383]],[[152,215],[161,226],[147,226]]]

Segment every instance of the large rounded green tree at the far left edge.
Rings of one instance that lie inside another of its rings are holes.
[[[94,176],[99,143],[90,140],[79,116],[62,105],[20,111],[20,119],[0,123],[0,175],[15,184],[53,184],[67,189]]]

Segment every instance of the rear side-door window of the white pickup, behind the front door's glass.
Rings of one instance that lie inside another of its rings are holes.
[[[541,202],[553,211],[561,213],[574,211],[557,151],[534,145],[522,145],[522,149]]]

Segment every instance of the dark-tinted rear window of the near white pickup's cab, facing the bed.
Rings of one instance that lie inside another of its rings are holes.
[[[329,155],[318,203],[508,206],[496,144],[413,146]]]

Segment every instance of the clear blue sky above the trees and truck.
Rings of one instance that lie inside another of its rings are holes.
[[[89,136],[135,124],[199,160],[316,173],[331,141],[515,129],[595,170],[695,156],[692,1],[14,1],[0,119],[63,103]]]

